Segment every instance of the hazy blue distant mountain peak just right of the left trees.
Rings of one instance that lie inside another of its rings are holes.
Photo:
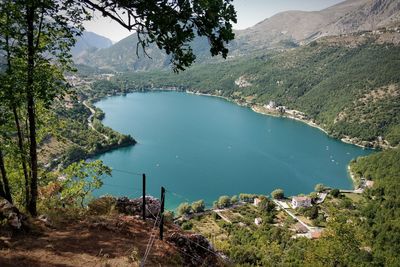
[[[112,44],[112,41],[104,36],[85,31],[77,38],[75,46],[71,49],[71,53],[75,59],[78,59],[87,52],[108,48]]]

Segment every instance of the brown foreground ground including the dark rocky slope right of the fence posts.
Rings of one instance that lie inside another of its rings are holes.
[[[122,201],[128,202],[126,199]],[[131,201],[136,203],[136,201]],[[222,266],[200,235],[167,223],[164,241],[154,219],[138,214],[86,215],[57,223],[30,219],[29,229],[0,228],[0,266],[139,266],[148,241],[154,244],[145,266]]]

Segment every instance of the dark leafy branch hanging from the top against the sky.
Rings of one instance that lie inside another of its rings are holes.
[[[232,23],[236,12],[231,0],[70,0],[81,3],[83,9],[100,11],[138,36],[138,46],[145,48],[155,43],[171,55],[175,71],[184,70],[196,59],[190,42],[196,36],[209,40],[212,56],[226,58],[226,43],[233,40]],[[123,12],[125,16],[119,15]]]

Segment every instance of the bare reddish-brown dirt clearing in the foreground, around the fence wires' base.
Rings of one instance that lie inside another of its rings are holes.
[[[0,266],[138,266],[153,224],[123,215],[91,217],[57,227],[37,223],[37,229],[29,233],[0,234]],[[146,266],[180,265],[176,248],[158,239],[158,229],[155,233]]]

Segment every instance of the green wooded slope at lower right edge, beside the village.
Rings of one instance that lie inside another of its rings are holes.
[[[400,252],[400,149],[386,150],[357,159],[351,169],[370,177],[374,187],[367,190],[362,209],[364,227],[370,234],[369,245],[376,265],[392,266],[399,262]]]

